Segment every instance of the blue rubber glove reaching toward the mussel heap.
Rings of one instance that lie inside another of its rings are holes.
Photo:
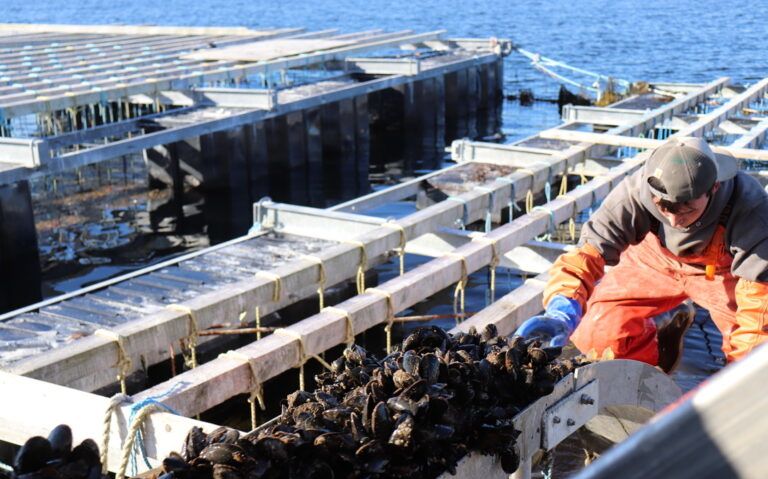
[[[524,338],[549,338],[549,345],[563,347],[581,321],[581,304],[562,294],[552,297],[544,314],[534,316],[520,325],[516,335]]]

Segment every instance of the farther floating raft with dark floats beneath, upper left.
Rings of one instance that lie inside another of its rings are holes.
[[[261,197],[354,198],[398,143],[407,171],[435,169],[446,142],[497,131],[510,48],[442,31],[0,25],[0,264],[20,272],[0,310],[40,300],[30,179],[139,155],[151,185],[217,195],[243,234]]]

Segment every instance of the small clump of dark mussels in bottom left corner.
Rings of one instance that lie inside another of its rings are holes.
[[[18,479],[100,479],[99,447],[85,439],[72,447],[72,430],[66,424],[53,428],[48,437],[34,436],[19,449],[13,460]]]

